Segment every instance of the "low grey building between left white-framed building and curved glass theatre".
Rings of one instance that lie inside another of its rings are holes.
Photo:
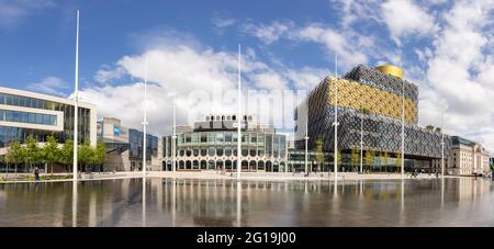
[[[136,171],[143,169],[144,133],[121,125],[114,117],[98,122],[98,137],[106,146],[105,171]],[[146,165],[148,170],[159,170],[161,154],[159,138],[147,134]]]

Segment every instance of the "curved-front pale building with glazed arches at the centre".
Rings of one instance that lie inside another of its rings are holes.
[[[178,170],[236,170],[236,115],[210,115],[194,127],[177,129]],[[164,168],[171,170],[172,137],[164,137]],[[243,171],[284,171],[287,137],[271,125],[260,125],[252,116],[244,116],[242,129]]]

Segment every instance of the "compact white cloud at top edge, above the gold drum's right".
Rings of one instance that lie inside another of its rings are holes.
[[[398,44],[402,36],[426,35],[437,30],[434,18],[409,0],[384,2],[382,18]]]

